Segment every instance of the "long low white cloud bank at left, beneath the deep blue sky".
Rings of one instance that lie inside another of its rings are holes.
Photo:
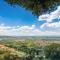
[[[32,26],[5,26],[0,24],[0,35],[24,36],[32,35],[35,25]]]

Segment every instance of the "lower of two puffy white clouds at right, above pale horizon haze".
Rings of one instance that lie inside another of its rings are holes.
[[[43,25],[40,26],[40,28],[48,30],[53,29],[53,31],[60,30],[60,21],[59,22],[54,22],[54,23],[44,23]]]

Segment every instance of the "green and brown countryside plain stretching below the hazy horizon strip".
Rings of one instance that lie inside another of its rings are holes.
[[[1,38],[0,60],[52,60],[50,56],[47,57],[49,53],[52,51],[60,53],[60,40],[30,38]],[[52,56],[55,57],[54,53]],[[60,59],[59,57],[57,59]]]

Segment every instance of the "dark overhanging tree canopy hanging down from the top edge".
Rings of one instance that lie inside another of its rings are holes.
[[[5,0],[8,4],[19,5],[32,14],[39,16],[40,14],[51,12],[60,4],[60,0]]]

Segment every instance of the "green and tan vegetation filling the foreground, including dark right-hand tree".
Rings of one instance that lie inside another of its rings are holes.
[[[38,41],[38,40],[37,40]],[[1,47],[1,45],[3,47]],[[58,60],[60,59],[60,44],[39,46],[35,40],[1,40],[0,60]]]

